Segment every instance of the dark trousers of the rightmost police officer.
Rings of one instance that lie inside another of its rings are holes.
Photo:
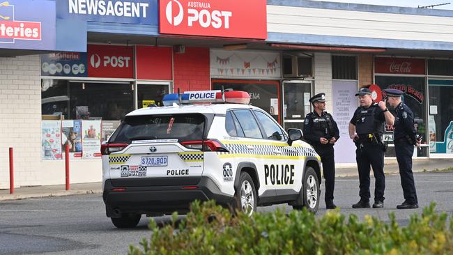
[[[404,199],[408,203],[418,203],[415,191],[414,176],[412,173],[412,155],[414,146],[406,141],[395,141],[394,150],[397,154],[399,176],[403,187]]]

